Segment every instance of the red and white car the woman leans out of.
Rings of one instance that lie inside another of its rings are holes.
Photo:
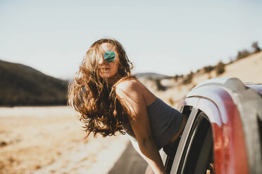
[[[175,157],[160,151],[167,173],[262,173],[262,83],[210,79],[177,109],[188,121]]]

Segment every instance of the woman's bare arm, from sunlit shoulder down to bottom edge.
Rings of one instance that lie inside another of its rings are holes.
[[[141,152],[139,154],[149,163],[154,173],[166,173],[156,143],[151,136],[149,116],[143,97],[145,88],[142,83],[132,79],[119,83],[116,94],[130,109],[129,119]]]

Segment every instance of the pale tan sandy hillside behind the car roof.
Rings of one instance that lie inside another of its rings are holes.
[[[237,77],[243,82],[262,83],[262,51],[254,53],[225,65],[225,72],[216,73],[216,68],[210,72],[205,72],[204,68],[191,74],[189,83],[184,83],[187,76],[175,76],[170,79],[161,79],[161,84],[166,87],[165,91],[156,88],[156,81],[152,79],[142,79],[142,83],[147,86],[159,98],[168,102],[170,105],[177,105],[181,98],[186,95],[194,86],[208,79],[218,77]]]

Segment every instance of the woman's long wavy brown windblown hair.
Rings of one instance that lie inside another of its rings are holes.
[[[116,47],[120,60],[119,79],[113,86],[108,79],[99,76],[101,44],[110,43]],[[104,137],[125,134],[123,124],[127,123],[129,111],[116,95],[116,84],[126,79],[136,78],[131,74],[132,62],[127,58],[123,46],[115,39],[100,39],[90,46],[82,60],[75,78],[68,85],[68,105],[80,113],[80,121],[85,123],[87,137],[90,133],[100,133]]]

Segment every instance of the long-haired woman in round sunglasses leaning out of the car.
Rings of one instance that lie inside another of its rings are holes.
[[[166,173],[158,150],[173,147],[187,119],[140,83],[132,67],[118,41],[94,42],[68,86],[68,104],[80,112],[87,136],[127,133],[154,173]]]

